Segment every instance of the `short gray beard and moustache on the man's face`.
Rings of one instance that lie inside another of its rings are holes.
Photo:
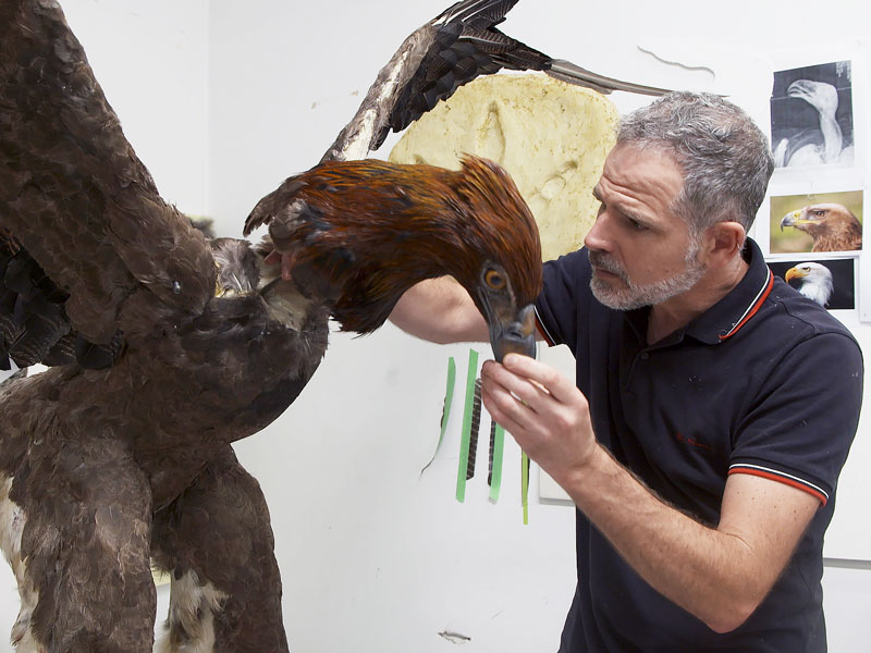
[[[671,299],[675,295],[685,293],[704,275],[704,266],[699,261],[699,246],[692,243],[684,258],[686,270],[674,276],[657,281],[648,285],[636,285],[626,271],[609,255],[588,250],[590,262],[597,267],[616,274],[626,284],[626,287],[613,287],[594,274],[590,278],[590,289],[593,296],[615,310],[634,310],[642,306],[653,306]]]

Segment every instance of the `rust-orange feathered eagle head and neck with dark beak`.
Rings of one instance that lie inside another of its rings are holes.
[[[451,275],[490,329],[496,359],[535,354],[541,245],[529,208],[496,163],[457,171],[378,160],[327,161],[258,202],[302,292],[318,289],[344,331],[369,333],[425,279]]]

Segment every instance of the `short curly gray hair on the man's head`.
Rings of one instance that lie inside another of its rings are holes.
[[[670,93],[629,113],[621,144],[675,158],[684,188],[674,209],[695,236],[726,220],[749,230],[774,170],[765,135],[744,110],[712,94]]]

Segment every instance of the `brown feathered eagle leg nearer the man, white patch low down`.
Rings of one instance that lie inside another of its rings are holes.
[[[171,571],[160,653],[287,651],[281,578],[260,485],[233,449],[155,514],[152,554]]]

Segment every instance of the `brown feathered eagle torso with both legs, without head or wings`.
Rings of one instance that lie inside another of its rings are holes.
[[[196,640],[212,612],[233,624],[253,611],[224,641],[286,650],[268,509],[230,443],[270,423],[306,385],[327,348],[329,309],[292,284],[266,294],[274,306],[256,292],[216,292],[199,315],[135,293],[119,322],[128,340],[110,368],[56,367],[0,391],[0,475],[20,526],[4,552],[21,560],[20,587],[33,600],[23,601],[17,641],[150,651],[154,559],[177,577],[173,602],[193,605],[172,612],[168,641]],[[221,596],[213,611],[189,603],[204,588]],[[109,623],[115,629],[98,646],[91,638]]]

